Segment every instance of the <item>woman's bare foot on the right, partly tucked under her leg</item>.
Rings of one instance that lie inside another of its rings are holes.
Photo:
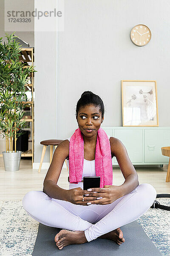
[[[110,240],[116,241],[116,243],[119,245],[125,242],[125,238],[123,237],[123,232],[119,227],[116,228],[116,230],[112,230],[111,232],[108,232],[102,236],[99,236],[98,238],[110,239]]]

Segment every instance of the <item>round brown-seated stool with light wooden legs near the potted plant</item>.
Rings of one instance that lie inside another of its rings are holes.
[[[41,170],[41,166],[42,166],[42,162],[44,159],[44,155],[45,155],[45,151],[48,145],[50,145],[50,164],[52,161],[52,157],[53,157],[53,146],[56,149],[57,146],[59,145],[59,143],[61,143],[63,140],[42,140],[40,142],[40,144],[44,145],[42,148],[42,155],[41,155],[41,161],[40,161],[40,167],[38,169],[38,172],[40,172]]]

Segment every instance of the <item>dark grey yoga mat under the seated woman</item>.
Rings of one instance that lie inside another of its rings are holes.
[[[97,238],[85,244],[70,244],[59,250],[54,237],[60,228],[39,224],[32,256],[162,256],[137,221],[121,227],[125,242]]]

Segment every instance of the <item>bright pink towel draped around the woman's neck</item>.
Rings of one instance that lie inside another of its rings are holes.
[[[69,144],[69,180],[70,183],[82,181],[84,162],[84,140],[80,129],[76,129],[70,138]],[[111,145],[105,131],[100,127],[97,131],[95,151],[96,176],[100,176],[100,188],[112,185],[113,167]]]

